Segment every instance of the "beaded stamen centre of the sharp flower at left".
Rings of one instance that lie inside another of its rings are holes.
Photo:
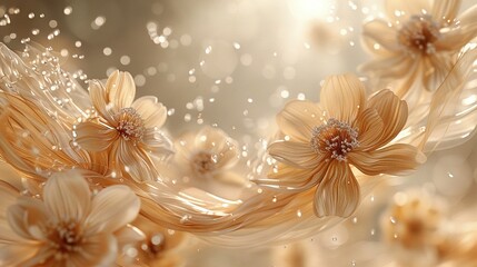
[[[141,116],[133,108],[123,108],[116,115],[119,131],[125,140],[132,140],[135,144],[142,140],[146,128]]]

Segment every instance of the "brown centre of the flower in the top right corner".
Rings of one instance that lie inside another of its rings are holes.
[[[398,42],[413,53],[436,52],[434,42],[440,38],[439,27],[429,16],[413,16],[398,31]]]

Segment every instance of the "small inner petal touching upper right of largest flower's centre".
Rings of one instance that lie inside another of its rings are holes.
[[[367,108],[356,119],[358,128],[359,147],[362,150],[369,150],[379,142],[382,136],[385,123],[378,111],[374,108]]]

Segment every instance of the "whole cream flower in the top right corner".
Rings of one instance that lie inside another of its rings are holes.
[[[436,90],[459,50],[477,37],[477,6],[460,16],[459,0],[387,0],[385,6],[388,21],[364,26],[364,42],[376,59],[362,70],[384,83],[400,82],[399,97],[413,85]]]

